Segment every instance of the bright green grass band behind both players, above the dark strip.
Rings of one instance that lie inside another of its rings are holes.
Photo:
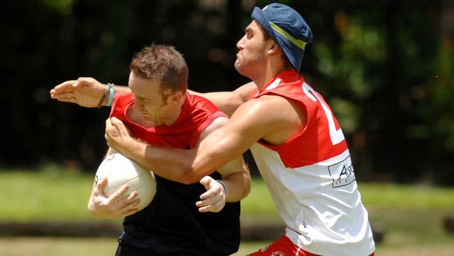
[[[86,206],[94,174],[77,171],[0,171],[0,220],[90,218]],[[360,183],[363,203],[371,215],[411,212],[454,214],[454,188],[423,185]],[[242,201],[242,213],[274,215],[277,211],[260,178]]]

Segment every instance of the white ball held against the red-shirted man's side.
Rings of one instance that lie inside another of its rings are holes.
[[[95,183],[102,178],[107,178],[104,194],[110,197],[122,185],[129,184],[124,197],[128,197],[134,191],[138,192],[136,199],[140,199],[139,211],[152,202],[156,194],[156,179],[152,171],[147,171],[138,163],[125,157],[119,152],[114,152],[105,157],[96,171]]]

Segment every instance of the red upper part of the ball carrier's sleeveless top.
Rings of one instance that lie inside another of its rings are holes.
[[[135,138],[140,138],[152,145],[170,148],[193,148],[200,133],[212,123],[215,118],[226,116],[214,106],[211,101],[186,92],[186,99],[180,116],[172,125],[161,125],[145,128],[130,120],[126,111],[134,104],[134,96],[116,94],[112,103],[110,117],[118,118],[131,130]]]

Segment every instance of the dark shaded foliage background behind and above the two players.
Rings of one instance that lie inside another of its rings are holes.
[[[126,85],[144,45],[175,45],[192,90],[246,83],[235,45],[253,6],[270,2],[4,1],[0,167],[95,171],[109,109],[60,103],[49,90],[79,76]],[[454,185],[454,1],[281,2],[312,28],[302,73],[337,115],[356,176]]]

